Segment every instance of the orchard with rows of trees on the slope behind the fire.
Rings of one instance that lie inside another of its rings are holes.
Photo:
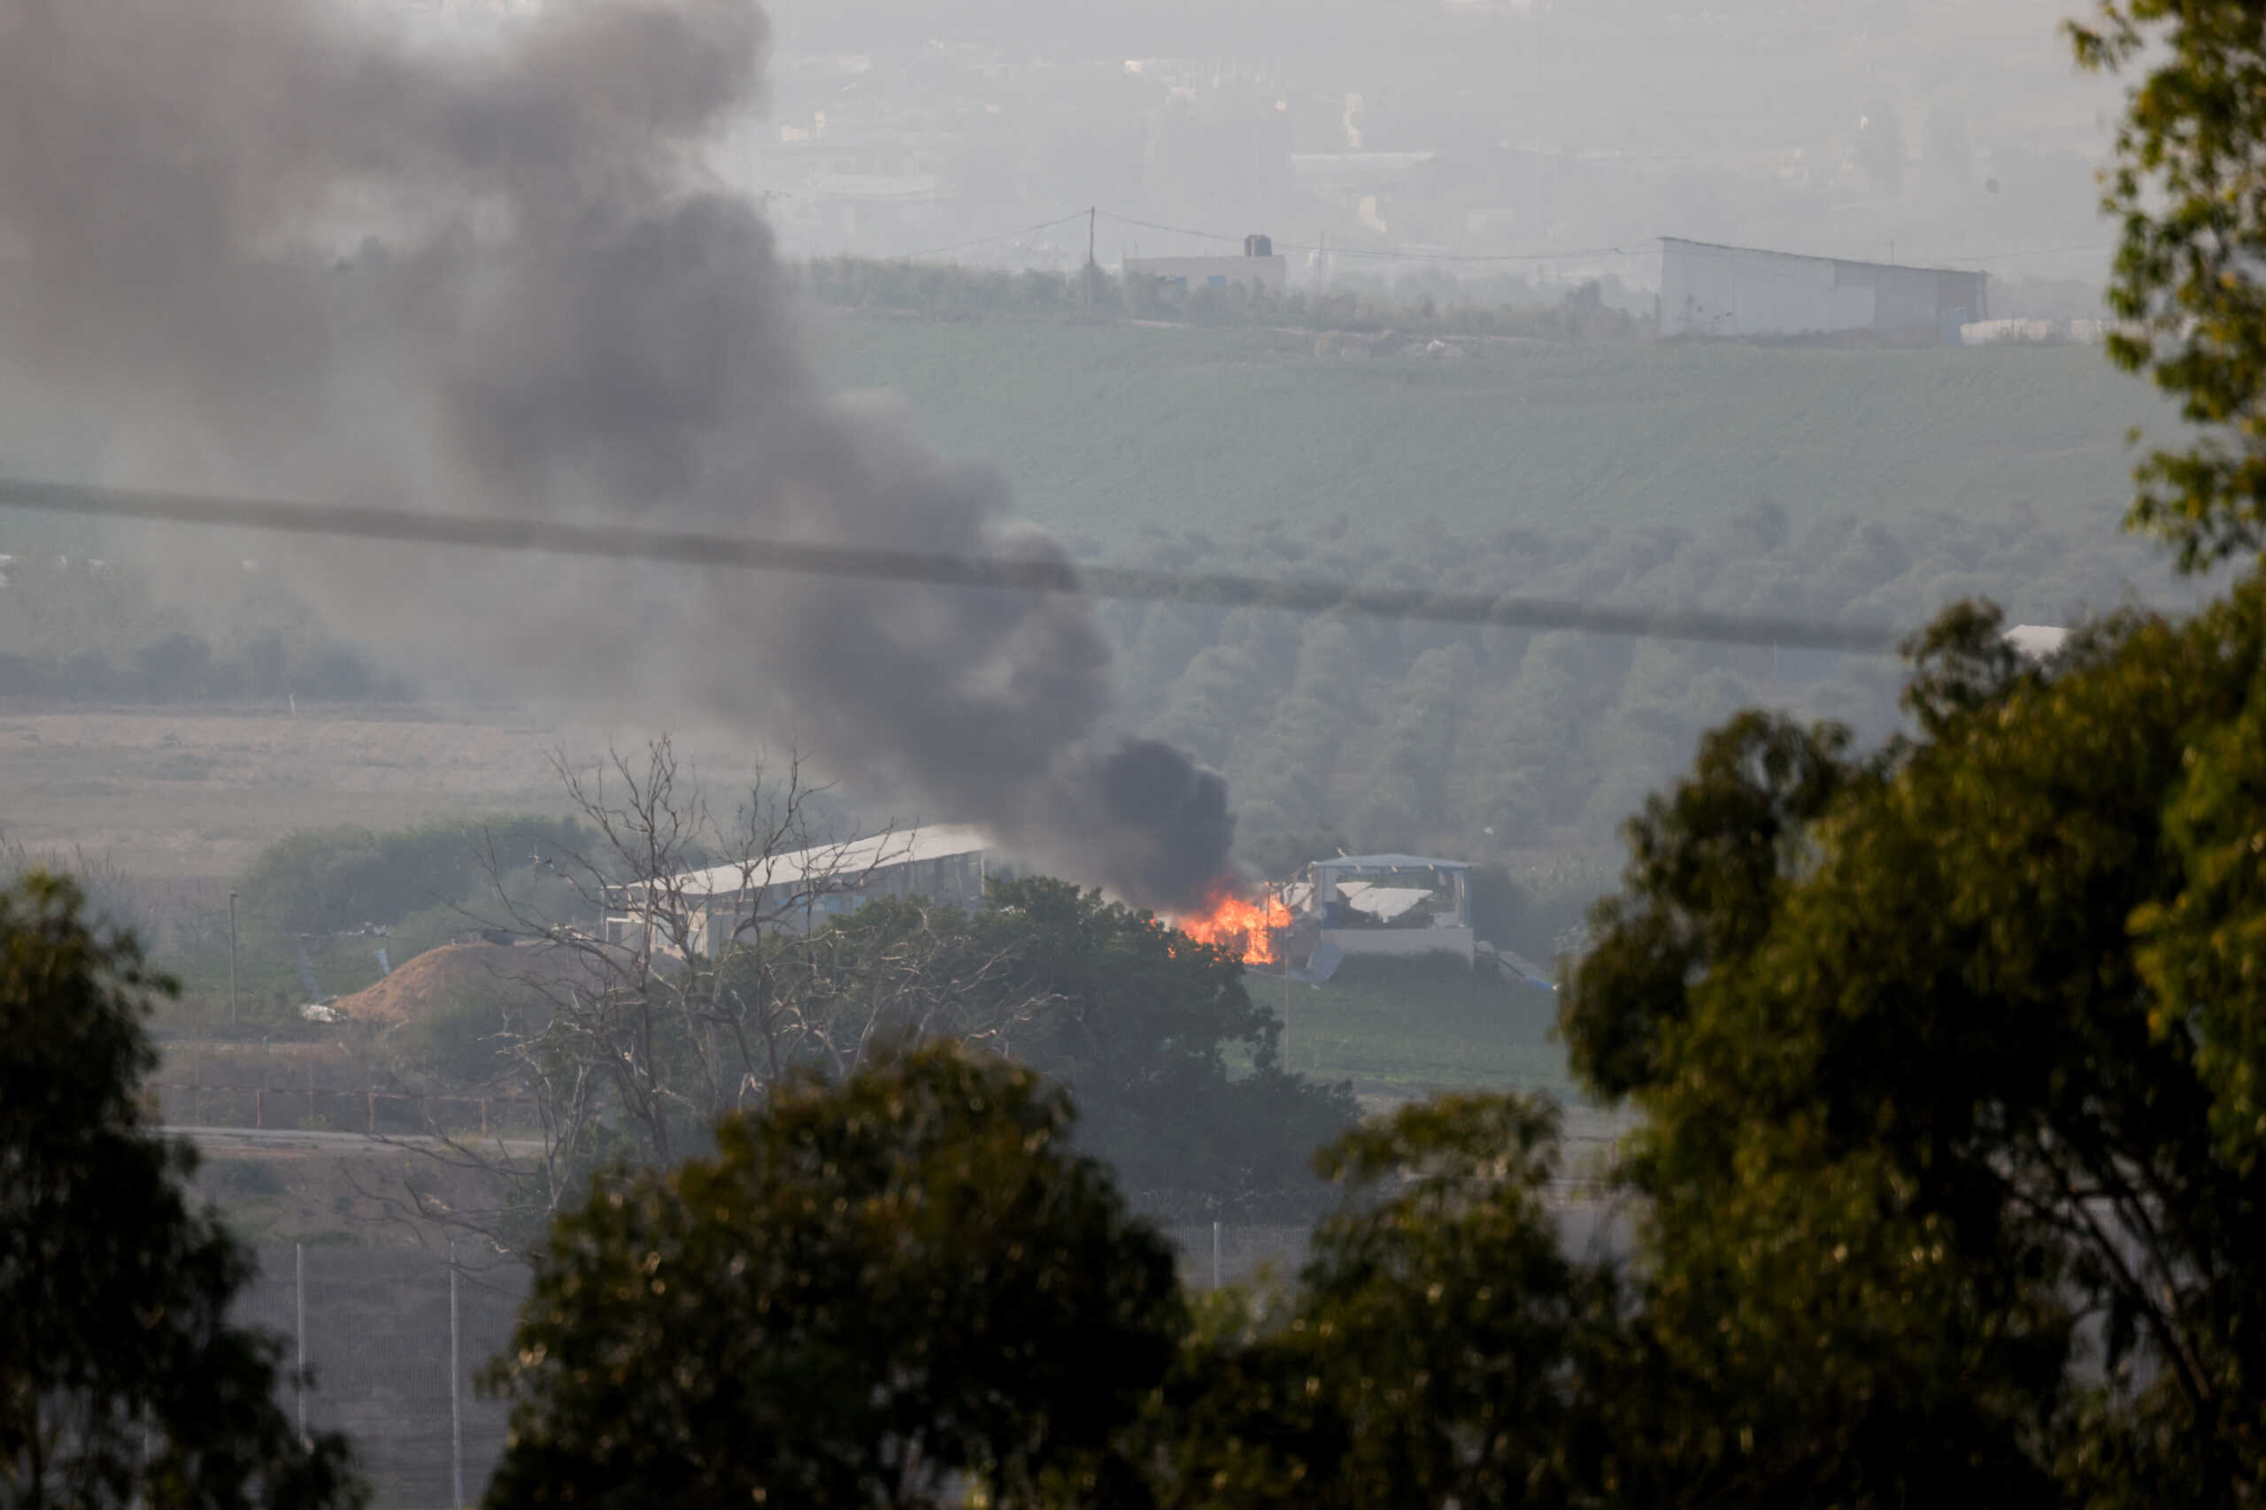
[[[1922,625],[1937,604],[2003,582],[2024,584],[2010,623],[2062,623],[2071,604],[2116,607],[2150,568],[2137,541],[2035,521],[1851,514],[1795,527],[1772,503],[1638,534],[1153,537],[1135,561],[1824,625]],[[1228,774],[1237,838],[1262,858],[1332,835],[1355,853],[1511,863],[1539,890],[1552,885],[1550,858],[1598,858],[1573,883],[1595,894],[1622,820],[1738,709],[1792,706],[1867,740],[1899,722],[1899,668],[1885,657],[1174,602],[1104,616],[1128,718]]]

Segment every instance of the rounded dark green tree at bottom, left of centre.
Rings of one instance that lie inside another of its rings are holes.
[[[934,1044],[600,1179],[492,1370],[512,1438],[487,1503],[1081,1499],[1185,1311],[1070,1121],[1033,1071]]]

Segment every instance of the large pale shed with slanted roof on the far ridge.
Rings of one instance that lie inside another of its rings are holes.
[[[1865,331],[1894,346],[1958,346],[1960,328],[1985,319],[1980,272],[1661,238],[1663,337]]]

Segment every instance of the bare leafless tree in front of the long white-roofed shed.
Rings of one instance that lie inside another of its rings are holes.
[[[417,1148],[512,1198],[467,1211],[410,1179],[403,1213],[517,1247],[591,1168],[673,1164],[793,1069],[847,1075],[884,1044],[934,1035],[1004,1053],[1045,1005],[1015,998],[1008,951],[977,946],[927,899],[838,926],[913,835],[834,831],[800,758],[759,774],[730,815],[668,736],[594,767],[553,754],[553,770],[587,847],[505,856],[480,840],[487,901],[469,910],[514,944],[496,1048],[535,1105],[535,1136],[428,1130]],[[546,896],[510,883],[530,872]]]

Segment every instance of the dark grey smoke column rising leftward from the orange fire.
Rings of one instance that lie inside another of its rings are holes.
[[[0,0],[0,360],[116,417],[118,480],[1058,559],[811,371],[770,231],[700,172],[764,43],[746,0],[476,54],[310,0]],[[555,693],[786,718],[1135,901],[1228,869],[1224,783],[1097,733],[1083,600],[383,548],[331,589]]]

